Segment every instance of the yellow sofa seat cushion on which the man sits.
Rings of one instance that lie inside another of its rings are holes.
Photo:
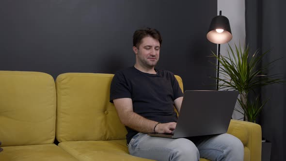
[[[59,146],[79,161],[152,161],[131,156],[126,140],[70,141]]]

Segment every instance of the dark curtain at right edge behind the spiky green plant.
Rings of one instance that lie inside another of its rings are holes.
[[[260,54],[271,49],[261,65],[279,59],[266,73],[280,74],[286,78],[286,1],[245,0],[246,43],[252,51],[260,49]],[[285,80],[285,79],[284,79]],[[262,137],[272,143],[271,161],[285,161],[286,141],[286,84],[272,84],[258,89],[261,102],[267,102],[260,113],[258,123],[262,127]],[[285,119],[284,119],[285,118]]]

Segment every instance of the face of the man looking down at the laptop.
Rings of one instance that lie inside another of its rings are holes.
[[[144,37],[139,48],[133,47],[136,54],[136,63],[143,67],[154,67],[159,61],[160,43],[153,37]]]

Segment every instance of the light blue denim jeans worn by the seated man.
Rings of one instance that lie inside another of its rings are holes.
[[[157,161],[243,161],[244,146],[230,134],[170,139],[136,134],[128,145],[133,156]]]

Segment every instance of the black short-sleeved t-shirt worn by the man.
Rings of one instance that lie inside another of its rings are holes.
[[[111,81],[110,102],[131,98],[133,112],[160,123],[176,122],[174,100],[183,93],[173,73],[155,69],[157,74],[143,73],[134,66],[119,70]],[[127,129],[127,144],[138,131]]]

